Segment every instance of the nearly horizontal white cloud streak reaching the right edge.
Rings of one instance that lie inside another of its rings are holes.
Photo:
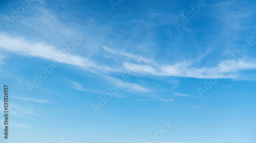
[[[256,61],[226,60],[214,67],[195,67],[195,63],[178,62],[173,65],[145,65],[124,63],[124,68],[137,74],[192,78],[239,78],[238,72],[256,69]]]

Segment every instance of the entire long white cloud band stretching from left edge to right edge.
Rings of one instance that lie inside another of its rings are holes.
[[[0,33],[0,48],[8,51],[12,51],[22,55],[35,56],[38,58],[55,61],[63,64],[69,64],[78,66],[84,70],[91,72],[114,72],[114,70],[105,65],[98,65],[90,59],[83,58],[78,55],[74,55],[67,52],[61,52],[56,47],[48,45],[43,42],[31,42],[23,38],[11,37],[9,35]],[[110,49],[108,49],[110,50]],[[110,50],[114,52],[113,50]],[[116,52],[116,51],[115,51]],[[144,61],[144,64],[135,64],[124,62],[124,69],[121,71],[133,71],[137,74],[148,74],[154,76],[176,76],[176,77],[193,77],[193,78],[233,78],[237,79],[237,72],[243,70],[256,69],[255,60],[236,61],[226,60],[220,62],[215,67],[196,67],[193,62],[176,62],[174,64],[157,64],[152,59],[141,59],[140,56],[134,56],[129,53],[119,52],[126,57],[140,62]],[[63,58],[66,57],[66,58]],[[123,60],[123,59],[122,59]],[[197,61],[200,62],[200,61]],[[120,72],[117,69],[115,72]],[[141,87],[137,85],[126,84],[126,87],[134,87],[137,90],[143,91]],[[144,90],[145,92],[145,90]]]

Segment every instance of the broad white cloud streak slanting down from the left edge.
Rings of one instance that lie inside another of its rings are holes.
[[[109,67],[99,66],[95,62],[82,58],[81,56],[57,50],[55,47],[44,42],[31,42],[23,38],[11,37],[3,33],[0,33],[0,48],[22,55],[35,56],[54,62],[78,66],[90,71],[92,71],[92,69],[101,71],[111,70]]]

